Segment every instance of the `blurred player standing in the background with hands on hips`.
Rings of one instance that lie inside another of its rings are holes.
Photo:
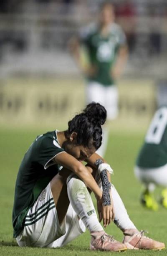
[[[108,120],[118,114],[119,78],[127,60],[126,36],[121,27],[114,23],[114,6],[110,2],[101,5],[99,20],[84,28],[79,38],[71,40],[73,56],[87,79],[86,101],[100,102],[107,109]],[[81,46],[86,49],[89,64],[83,64]],[[108,131],[104,129],[104,139],[99,155],[104,155]]]

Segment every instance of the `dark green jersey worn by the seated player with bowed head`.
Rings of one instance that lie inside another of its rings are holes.
[[[39,135],[25,153],[15,184],[13,205],[14,237],[23,230],[25,216],[42,190],[61,170],[53,158],[64,152],[57,140],[57,131]]]

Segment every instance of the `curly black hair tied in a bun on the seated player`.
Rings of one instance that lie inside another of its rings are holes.
[[[106,109],[99,103],[91,102],[68,122],[68,135],[76,132],[76,144],[97,150],[101,146],[101,125],[106,122]],[[67,135],[67,134],[66,134]],[[67,137],[67,136],[66,136]]]

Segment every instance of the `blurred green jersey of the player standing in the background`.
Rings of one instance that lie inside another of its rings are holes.
[[[107,36],[102,36],[97,24],[92,24],[81,32],[81,42],[86,46],[90,63],[96,67],[94,76],[89,81],[96,81],[104,86],[115,84],[111,76],[111,67],[114,65],[120,46],[126,44],[126,37],[121,27],[111,24]]]

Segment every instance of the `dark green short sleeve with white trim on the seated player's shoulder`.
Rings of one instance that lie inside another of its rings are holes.
[[[46,170],[49,166],[55,165],[53,158],[62,152],[65,152],[65,150],[60,147],[56,139],[43,137],[40,143],[38,162]]]

